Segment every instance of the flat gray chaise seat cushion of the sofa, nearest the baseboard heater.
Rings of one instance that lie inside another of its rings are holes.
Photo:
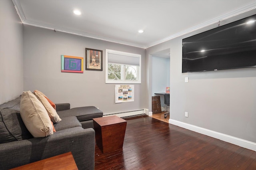
[[[93,118],[102,117],[103,112],[94,106],[76,107],[70,110],[58,111],[60,117],[76,116],[79,121],[87,121]]]

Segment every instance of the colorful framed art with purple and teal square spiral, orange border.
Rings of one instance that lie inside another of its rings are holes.
[[[61,55],[61,72],[84,73],[84,57]]]

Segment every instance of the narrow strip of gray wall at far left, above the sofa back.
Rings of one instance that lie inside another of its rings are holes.
[[[0,104],[23,91],[22,23],[11,0],[0,0]]]

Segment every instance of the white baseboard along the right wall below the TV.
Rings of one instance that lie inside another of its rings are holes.
[[[192,130],[194,132],[205,134],[207,136],[211,136],[213,138],[217,138],[217,139],[223,140],[225,142],[229,142],[229,143],[241,146],[243,148],[247,148],[247,149],[256,151],[256,143],[250,142],[248,140],[244,140],[244,139],[241,139],[241,138],[236,138],[234,136],[230,136],[230,135],[227,135],[227,134],[215,132],[213,130],[208,130],[206,128],[197,127],[197,126],[190,125],[188,123],[184,123],[184,122],[180,122],[180,121],[176,121],[176,120],[173,120],[173,119],[169,119],[169,123],[172,124],[172,125],[176,125],[178,127],[186,128],[186,129]]]

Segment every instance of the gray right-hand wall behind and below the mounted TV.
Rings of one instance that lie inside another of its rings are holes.
[[[256,10],[224,22],[252,14]],[[152,64],[150,54],[170,48],[170,119],[256,142],[255,67],[182,73],[182,38],[211,28],[215,25],[148,48],[147,64]],[[150,74],[149,67],[148,79]],[[184,83],[185,77],[189,77],[189,83]],[[188,117],[184,117],[184,112],[188,112]]]

